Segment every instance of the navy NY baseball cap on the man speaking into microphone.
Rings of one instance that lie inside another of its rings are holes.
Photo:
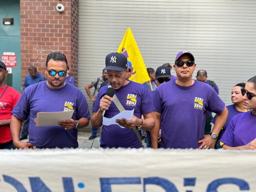
[[[103,70],[125,71],[128,67],[127,57],[121,53],[110,53],[106,56],[106,67]]]

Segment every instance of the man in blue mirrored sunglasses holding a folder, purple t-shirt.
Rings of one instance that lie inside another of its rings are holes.
[[[86,99],[77,87],[65,83],[68,62],[60,52],[50,53],[45,63],[47,81],[27,87],[12,110],[11,133],[16,148],[77,148],[77,129],[89,124],[90,112]],[[57,126],[36,127],[38,112],[74,110],[71,119]],[[29,142],[21,142],[22,120],[29,119]]]

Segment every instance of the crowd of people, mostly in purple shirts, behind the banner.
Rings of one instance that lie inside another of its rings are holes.
[[[0,149],[77,148],[78,129],[87,127],[90,119],[89,139],[100,128],[101,148],[143,147],[142,131],[146,131],[148,148],[256,149],[256,76],[238,82],[231,90],[234,104],[225,106],[217,84],[207,80],[205,70],[197,72],[196,80],[192,78],[196,63],[191,52],[177,54],[176,76],[171,75],[169,63],[156,71],[147,68],[150,81],[144,84],[129,80],[132,63],[121,53],[108,54],[105,65],[102,77],[85,87],[93,102],[90,117],[84,94],[68,75],[64,54],[48,55],[45,77],[29,67],[21,95],[5,84],[8,71],[0,61]],[[70,110],[74,110],[71,119],[58,125],[38,128],[34,123],[38,112]],[[116,118],[112,124],[103,121],[125,110],[133,110],[132,118]],[[22,142],[27,134],[29,141]]]

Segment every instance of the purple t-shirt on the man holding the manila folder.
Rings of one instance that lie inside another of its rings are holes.
[[[60,126],[35,127],[38,112],[75,110],[72,119],[90,119],[89,107],[82,91],[66,83],[60,89],[51,89],[46,81],[27,87],[12,114],[20,120],[29,116],[29,143],[38,148],[77,148],[77,129],[65,130]]]

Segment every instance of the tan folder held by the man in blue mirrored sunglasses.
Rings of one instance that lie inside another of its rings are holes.
[[[71,119],[74,110],[61,112],[39,112],[34,119],[36,127],[41,126],[60,126],[58,123],[65,119]]]

